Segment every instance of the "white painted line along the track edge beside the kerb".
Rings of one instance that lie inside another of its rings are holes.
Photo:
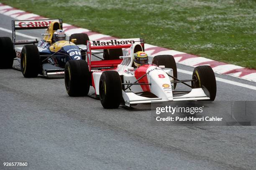
[[[0,27],[0,30],[12,33],[12,30],[8,30],[8,29],[2,28],[2,27]],[[30,35],[22,34],[22,33],[19,33],[19,32],[16,32],[16,35],[26,37],[26,38],[31,38],[31,39],[38,38],[38,37],[33,37],[33,36],[30,36]],[[189,74],[189,75],[193,74],[193,72],[191,72],[191,71],[182,70],[182,69],[179,69],[179,68],[177,69],[177,71],[182,72],[184,74]],[[220,77],[216,77],[216,81],[225,82],[227,84],[236,85],[236,86],[239,86],[239,87],[245,87],[245,88],[248,88],[248,89],[256,90],[256,86],[247,85],[247,84],[244,84],[244,83],[241,83],[241,82],[235,82],[235,81],[232,81],[232,80],[226,80],[226,79],[223,79],[223,78],[220,78]]]

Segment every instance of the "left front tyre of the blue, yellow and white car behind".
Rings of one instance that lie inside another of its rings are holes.
[[[37,77],[40,72],[40,56],[36,45],[24,45],[21,50],[20,68],[24,77]]]

